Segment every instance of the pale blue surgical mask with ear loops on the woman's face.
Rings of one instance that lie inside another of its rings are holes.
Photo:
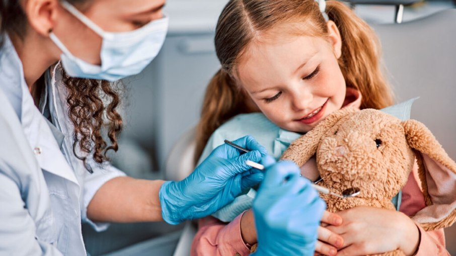
[[[63,68],[72,77],[115,81],[142,71],[159,53],[168,30],[168,18],[149,22],[128,32],[106,32],[78,9],[62,1],[63,8],[103,38],[101,65],[88,63],[72,55],[63,43],[50,33],[50,39],[62,51]]]

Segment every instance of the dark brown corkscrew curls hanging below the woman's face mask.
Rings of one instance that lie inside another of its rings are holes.
[[[122,117],[116,109],[120,104],[122,83],[74,78],[68,76],[63,68],[61,71],[62,83],[68,92],[68,117],[74,126],[73,153],[93,173],[92,167],[86,163],[90,153],[95,162],[101,164],[109,160],[106,155],[108,150],[117,151],[119,148],[117,137],[122,131]],[[103,138],[104,129],[110,146]],[[82,155],[77,152],[78,149]]]

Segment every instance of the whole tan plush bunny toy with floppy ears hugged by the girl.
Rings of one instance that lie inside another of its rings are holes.
[[[318,185],[338,194],[360,189],[358,196],[344,199],[322,194],[331,212],[355,206],[395,210],[391,199],[407,183],[416,158],[426,207],[412,219],[425,230],[448,227],[456,219],[456,163],[418,121],[344,108],[291,143],[281,159],[302,166],[314,155],[323,179]]]

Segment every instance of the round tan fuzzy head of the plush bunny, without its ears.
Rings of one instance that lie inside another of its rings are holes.
[[[337,191],[360,188],[363,197],[393,198],[413,167],[401,121],[376,110],[341,118],[317,148],[320,175]]]

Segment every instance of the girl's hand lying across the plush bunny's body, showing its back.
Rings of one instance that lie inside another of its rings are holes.
[[[328,226],[344,239],[337,255],[367,255],[401,249],[413,255],[420,241],[420,231],[405,214],[367,206],[338,212],[343,223]]]

